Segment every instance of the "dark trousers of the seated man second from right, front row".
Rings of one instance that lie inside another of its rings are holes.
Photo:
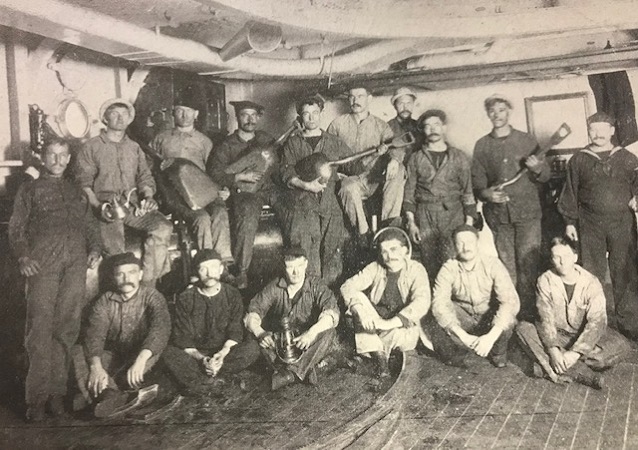
[[[461,328],[475,336],[482,336],[492,328],[494,312],[488,311],[483,315],[468,314],[464,309],[455,305],[456,317]],[[426,333],[432,340],[434,351],[447,364],[458,364],[462,362],[471,351],[456,336],[449,335],[439,326],[434,317],[430,314],[424,320]],[[503,357],[507,354],[507,345],[512,337],[512,330],[505,330],[494,343],[490,358]]]

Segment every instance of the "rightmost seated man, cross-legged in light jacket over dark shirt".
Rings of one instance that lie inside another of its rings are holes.
[[[536,325],[521,322],[516,334],[553,382],[577,381],[602,389],[603,378],[593,370],[621,361],[631,350],[629,341],[607,326],[602,285],[576,264],[572,242],[554,238],[550,250],[553,269],[536,284],[540,320]]]

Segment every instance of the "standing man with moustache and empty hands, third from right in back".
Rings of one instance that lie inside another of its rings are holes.
[[[472,224],[476,201],[471,163],[445,140],[447,116],[430,109],[419,118],[426,143],[409,157],[403,210],[412,241],[420,245],[421,261],[433,283],[441,265],[454,256],[452,231]]]

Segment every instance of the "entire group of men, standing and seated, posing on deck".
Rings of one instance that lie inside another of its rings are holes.
[[[198,99],[188,92],[176,99],[175,128],[156,136],[148,151],[158,159],[188,159],[224,189],[206,208],[192,210],[159,183],[166,208],[190,225],[198,247],[198,281],[180,295],[172,320],[155,289],[170,270],[172,224],[154,198],[158,185],[147,155],[126,136],[133,106],[121,99],[103,105],[106,130],[83,145],[74,182],[64,176],[68,144],[50,141],[43,174],[21,186],[9,227],[27,277],[27,418],[42,420],[47,408],[64,413],[71,361],[83,398],[98,404],[96,414],[121,400],[118,386],[141,386],[159,360],[188,394],[205,392],[211,380],[262,356],[272,369],[273,389],[316,383],[315,367],[330,352],[339,323],[336,293],[353,318],[357,353],[376,361],[380,377],[389,375],[392,350],[412,350],[419,341],[448,364],[463,366],[473,352],[503,367],[516,330],[540,375],[600,387],[592,368],[615,364],[629,348],[607,327],[607,252],[617,328],[638,334],[638,158],[612,144],[613,118],[597,113],[588,119],[592,143],[570,161],[559,202],[567,238],[551,242],[552,269],[538,278],[539,186],[550,170],[535,139],[509,124],[507,98],[485,100],[493,130],[477,141],[472,160],[448,144],[444,111],[412,119],[416,95],[408,88],[392,97],[397,116],[389,123],[370,113],[366,88],[353,87],[348,100],[351,112],[323,131],[323,99],[302,99],[301,131],[285,142],[277,170],[232,173],[230,165],[273,143],[257,129],[264,108],[231,102],[238,129],[213,149],[195,129]],[[408,132],[411,145],[389,145],[393,136]],[[309,179],[300,169],[315,153],[334,161],[371,149],[329,176]],[[499,187],[521,170],[526,173],[518,182]],[[251,184],[254,189],[245,188]],[[375,193],[385,226],[378,233],[364,203]],[[476,198],[483,202],[498,258],[479,251]],[[236,287],[246,286],[265,204],[277,212],[286,243],[282,276],[245,309]],[[125,226],[147,233],[141,260],[125,253]],[[375,249],[376,260],[343,280],[348,231],[359,249]],[[576,264],[577,240],[582,267]],[[109,257],[113,289],[91,305],[76,345],[86,269],[101,255]],[[231,265],[235,287],[221,281]],[[294,360],[281,356],[288,328],[296,332],[288,342],[296,348]]]

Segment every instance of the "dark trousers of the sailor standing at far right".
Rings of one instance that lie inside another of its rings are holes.
[[[634,215],[599,215],[582,211],[579,218],[583,267],[605,283],[607,252],[618,328],[638,336],[638,274]]]

